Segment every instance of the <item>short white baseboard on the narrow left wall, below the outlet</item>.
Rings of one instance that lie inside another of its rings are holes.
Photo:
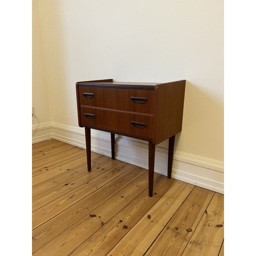
[[[52,139],[52,122],[32,125],[32,144]]]

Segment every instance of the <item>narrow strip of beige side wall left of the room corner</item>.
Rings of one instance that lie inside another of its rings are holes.
[[[32,1],[32,63],[33,125],[37,125],[51,122],[38,0]]]

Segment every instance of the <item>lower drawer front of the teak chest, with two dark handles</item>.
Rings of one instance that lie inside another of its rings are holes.
[[[81,124],[153,138],[153,117],[80,107]]]

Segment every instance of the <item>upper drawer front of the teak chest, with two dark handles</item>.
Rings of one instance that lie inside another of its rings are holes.
[[[154,90],[78,86],[80,105],[153,114]]]

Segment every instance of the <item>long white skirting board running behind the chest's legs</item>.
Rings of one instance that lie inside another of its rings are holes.
[[[52,138],[85,148],[84,128],[52,122]],[[110,134],[91,130],[91,150],[111,157]],[[116,135],[116,159],[148,169],[148,143]],[[168,149],[156,146],[155,172],[167,175]],[[174,151],[172,178],[224,194],[224,163]]]

